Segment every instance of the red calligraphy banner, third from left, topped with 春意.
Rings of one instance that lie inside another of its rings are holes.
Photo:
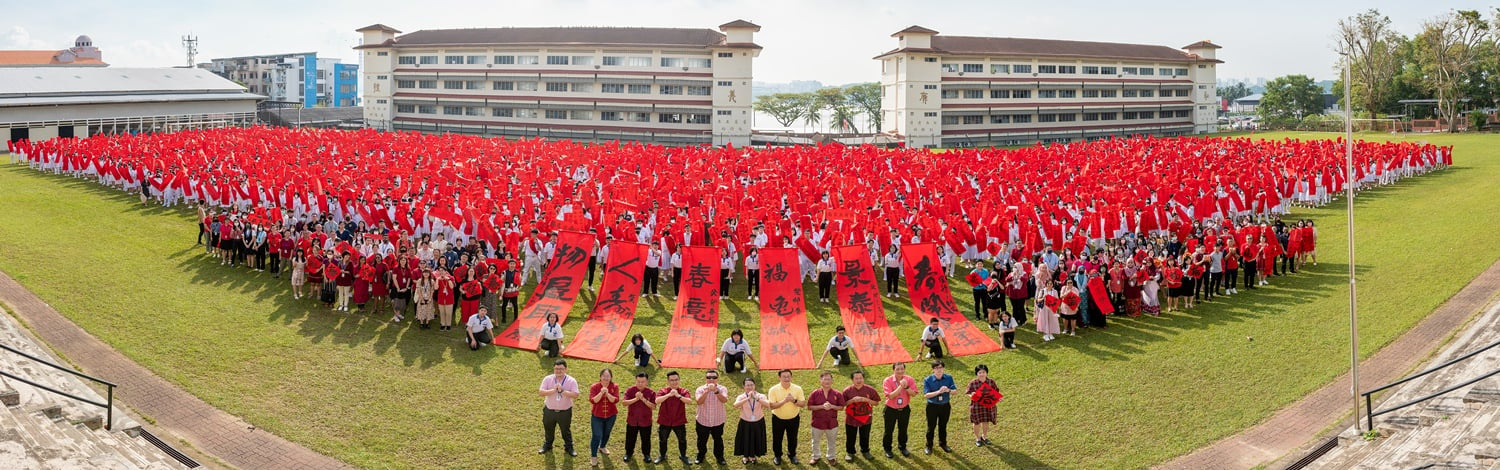
[[[682,293],[672,311],[662,366],[712,369],[718,354],[718,248],[682,246]]]

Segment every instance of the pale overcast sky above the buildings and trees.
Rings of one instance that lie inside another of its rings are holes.
[[[1191,8],[1186,8],[1191,6]],[[357,62],[354,29],[382,23],[404,32],[501,26],[708,27],[732,20],[762,26],[759,81],[879,80],[870,57],[896,47],[891,33],[912,24],[945,35],[1224,47],[1220,78],[1306,74],[1335,78],[1340,18],[1377,8],[1396,30],[1414,35],[1449,9],[1482,2],[846,2],[846,0],[255,0],[255,2],[14,2],[0,15],[0,48],[60,50],[88,35],[114,66],[186,63],[183,35],[212,57],[316,51]]]

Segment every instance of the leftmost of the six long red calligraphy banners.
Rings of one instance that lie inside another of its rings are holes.
[[[537,288],[526,297],[516,318],[506,332],[495,338],[495,345],[537,350],[542,342],[542,326],[548,314],[558,314],[558,323],[567,321],[578,290],[584,287],[588,273],[588,254],[594,251],[594,236],[579,231],[558,233],[556,251],[548,261]]]

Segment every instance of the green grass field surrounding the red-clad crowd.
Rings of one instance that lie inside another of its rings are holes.
[[[1500,206],[1500,137],[1416,138],[1455,146],[1455,167],[1364,192],[1356,201],[1365,356],[1500,257],[1500,212],[1492,209]],[[994,446],[972,444],[966,401],[958,401],[950,426],[956,453],[918,452],[912,459],[860,465],[1134,468],[1263,420],[1348,368],[1342,207],[1336,201],[1294,213],[1317,221],[1320,263],[1275,278],[1270,288],[1161,318],[1113,318],[1107,330],[1050,344],[1032,329],[1018,335],[1017,351],[948,360],[960,384],[976,363],[994,371],[1006,395],[1000,426],[992,431]],[[460,332],[418,330],[410,321],[392,324],[388,315],[336,314],[292,300],[285,279],[220,267],[206,257],[194,245],[195,231],[186,210],[142,209],[134,195],[96,183],[0,165],[0,269],[207,402],[357,467],[588,465],[586,407],[573,420],[579,458],[534,453],[542,441],[534,390],[549,360],[507,348],[471,353]],[[968,308],[960,284],[952,279]],[[921,326],[906,302],[885,299],[885,309],[915,351]],[[570,338],[591,303],[590,293],[576,303]],[[820,345],[838,315],[831,303],[807,308],[813,342]],[[669,315],[669,300],[644,300],[634,329],[660,347]],[[756,318],[754,303],[730,302],[720,333],[742,327],[758,344]],[[574,360],[572,374],[586,384],[603,366]],[[616,377],[630,372],[608,366]],[[848,384],[849,371],[838,371],[837,386]],[[774,380],[771,372],[752,372],[762,383]],[[888,372],[880,366],[872,375]],[[927,366],[910,372],[920,377]],[[664,381],[664,372],[651,374],[652,384]],[[810,390],[816,375],[798,371],[795,380]],[[684,384],[696,387],[700,377],[688,372]],[[476,407],[483,411],[474,413]],[[922,443],[921,414],[912,416],[914,450]],[[730,413],[726,438],[734,422]],[[622,428],[616,425],[610,444],[616,459],[606,468],[633,467],[618,461]],[[804,429],[798,443],[804,458],[807,438]],[[879,438],[876,428],[876,447]]]

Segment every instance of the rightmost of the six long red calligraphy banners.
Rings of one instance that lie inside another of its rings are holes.
[[[970,356],[1000,350],[1000,345],[974,326],[952,302],[948,276],[944,275],[942,261],[938,258],[938,245],[903,245],[902,270],[906,278],[906,291],[912,297],[912,311],[922,318],[922,323],[938,318],[938,324],[942,326],[946,336],[950,354]]]

